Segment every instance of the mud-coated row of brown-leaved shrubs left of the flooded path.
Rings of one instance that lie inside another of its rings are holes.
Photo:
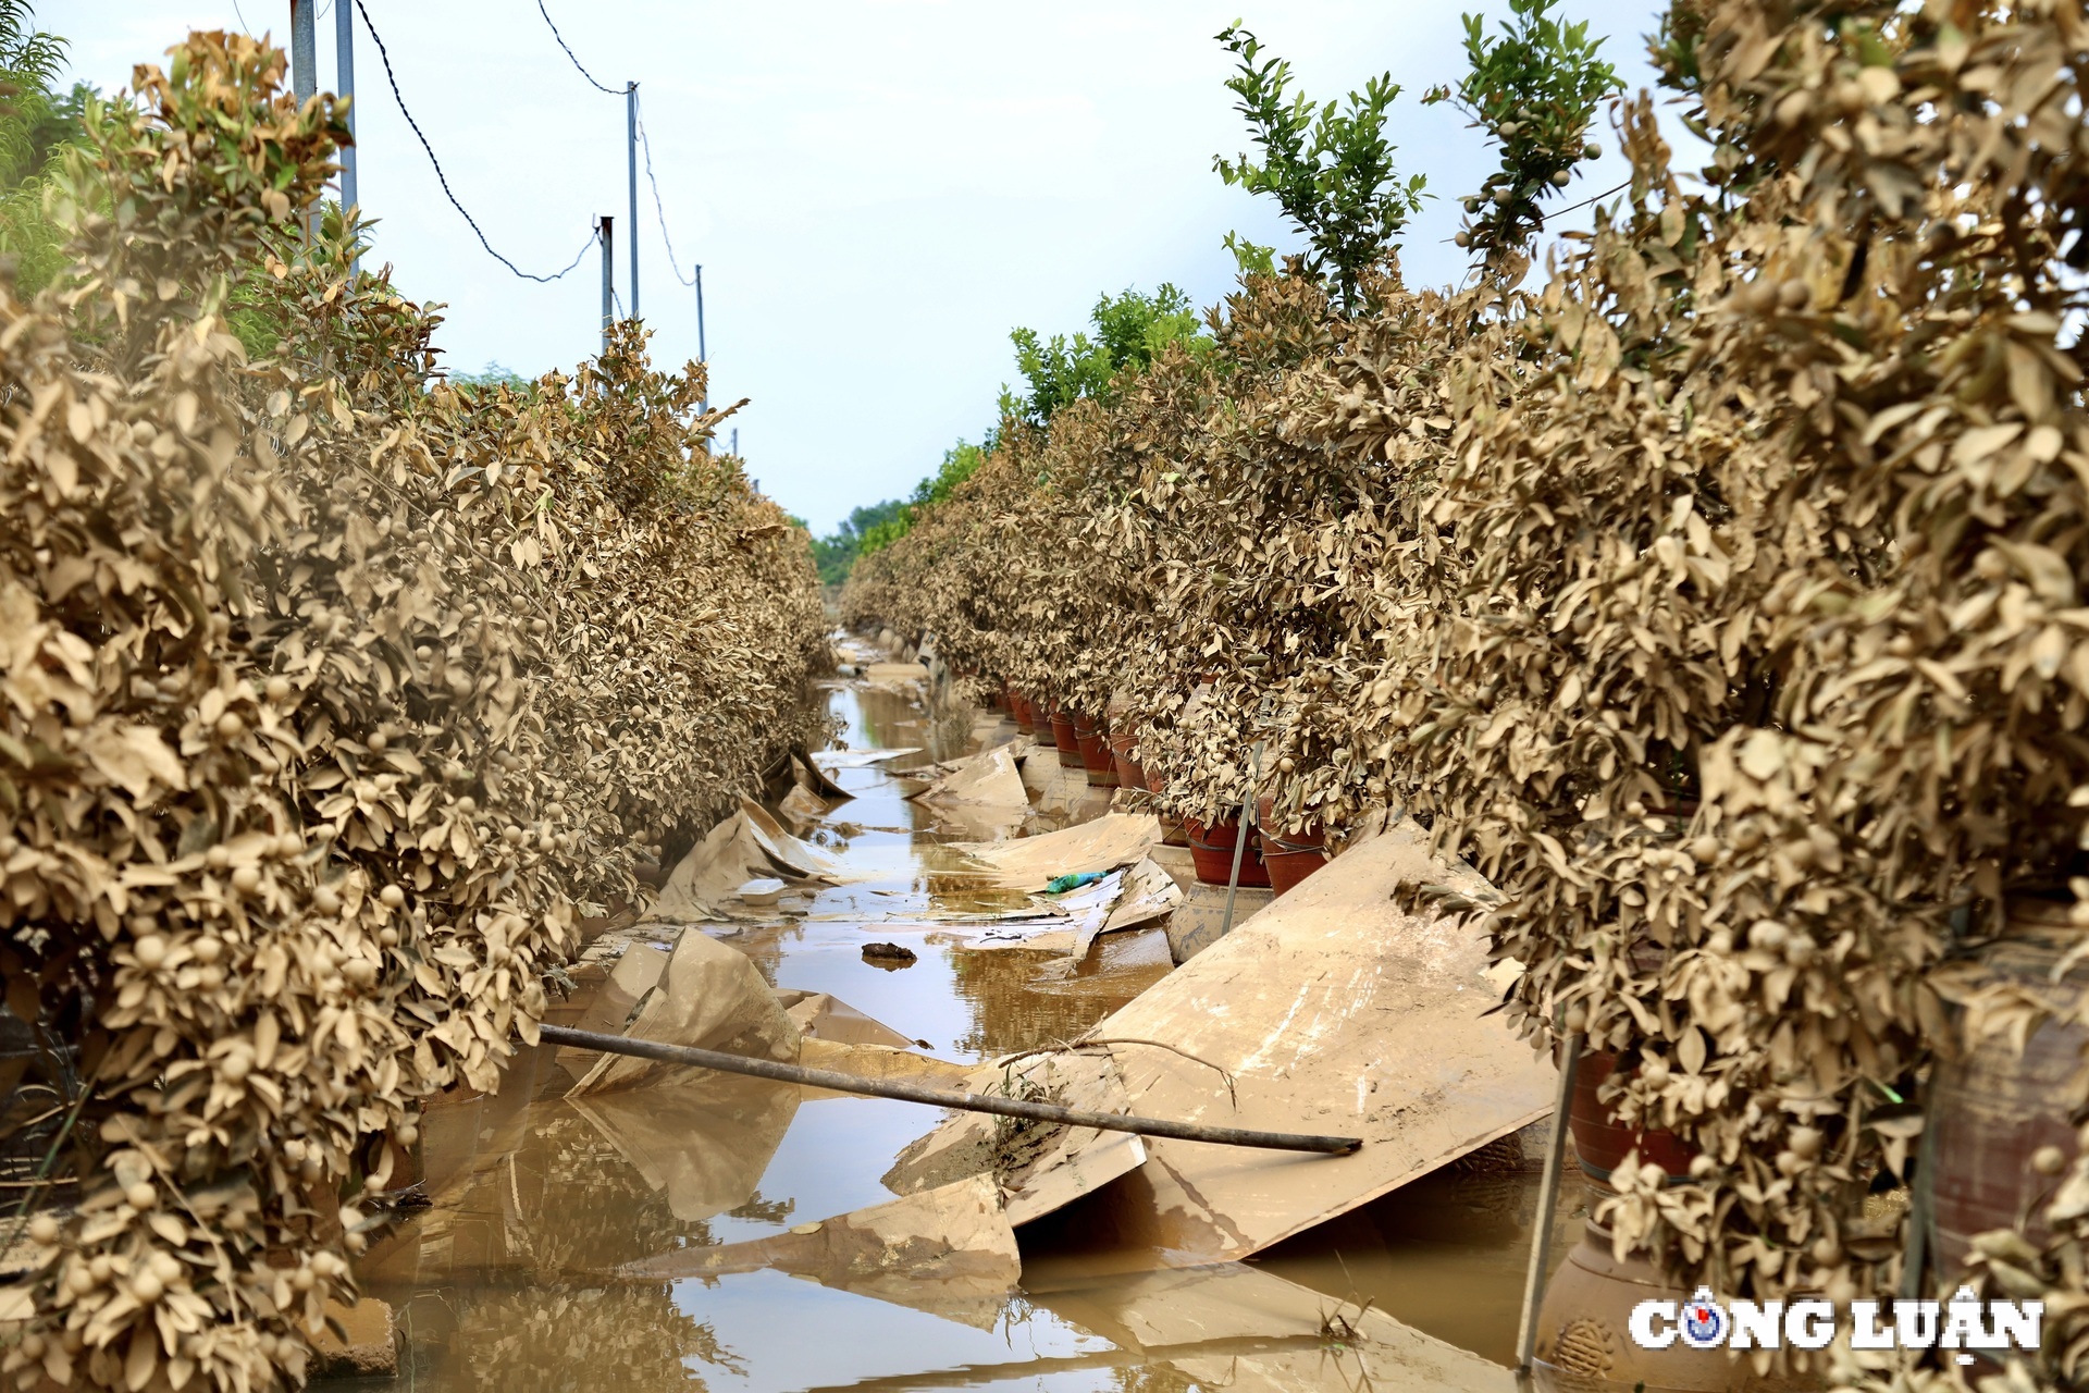
[[[825,743],[804,533],[637,326],[447,386],[315,200],[345,102],[198,33],[0,292],[0,1370],[303,1380],[579,923]],[[311,228],[301,223],[311,219]]]

